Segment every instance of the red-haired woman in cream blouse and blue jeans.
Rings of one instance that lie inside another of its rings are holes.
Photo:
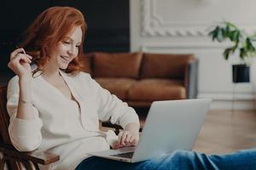
[[[83,14],[76,8],[48,8],[29,27],[22,48],[10,55],[9,68],[17,76],[9,81],[7,108],[9,135],[17,150],[58,154],[61,160],[52,168],[61,170],[242,169],[245,159],[255,158],[253,151],[230,156],[177,151],[132,164],[89,157],[88,152],[108,150],[110,145],[115,149],[137,145],[139,121],[131,107],[81,71],[85,29]],[[32,61],[37,65],[35,70]],[[99,120],[117,123],[124,132],[118,137],[112,131],[103,133]],[[256,167],[247,161],[250,166]]]

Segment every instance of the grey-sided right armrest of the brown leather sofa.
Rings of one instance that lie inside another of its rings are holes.
[[[190,60],[188,65],[186,65],[184,85],[187,99],[195,99],[198,92],[198,59]]]

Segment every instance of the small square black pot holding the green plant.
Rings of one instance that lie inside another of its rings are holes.
[[[233,82],[250,82],[250,66],[232,65]]]

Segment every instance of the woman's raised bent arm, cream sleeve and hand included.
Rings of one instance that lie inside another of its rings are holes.
[[[11,54],[9,62],[9,68],[18,76],[11,79],[8,85],[9,136],[17,150],[32,151],[41,144],[42,121],[38,110],[32,105],[30,60],[25,54],[17,56],[20,50],[16,49]]]

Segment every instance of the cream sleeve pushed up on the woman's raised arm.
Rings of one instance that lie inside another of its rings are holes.
[[[18,103],[19,97],[19,80],[14,77],[9,81],[7,90],[7,111],[9,112],[9,137],[15,148],[20,151],[32,151],[38,148],[42,141],[41,127],[43,125],[38,116],[38,110],[30,104],[33,118],[19,118]],[[26,106],[25,106],[26,107]],[[26,110],[23,110],[26,111]]]

